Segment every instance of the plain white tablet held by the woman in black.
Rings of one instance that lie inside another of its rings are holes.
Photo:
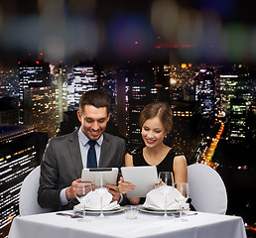
[[[126,193],[127,197],[146,197],[146,194],[158,183],[158,172],[155,166],[122,167],[121,172],[124,181],[136,185],[134,190]]]

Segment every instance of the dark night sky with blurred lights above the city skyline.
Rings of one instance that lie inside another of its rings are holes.
[[[255,12],[249,0],[1,0],[0,69],[29,54],[71,64],[150,59],[159,49],[185,61],[252,62]]]

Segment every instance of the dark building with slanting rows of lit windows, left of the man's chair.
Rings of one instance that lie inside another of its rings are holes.
[[[33,127],[0,126],[1,234],[19,215],[22,182],[40,164],[47,141],[47,134],[37,133]]]

